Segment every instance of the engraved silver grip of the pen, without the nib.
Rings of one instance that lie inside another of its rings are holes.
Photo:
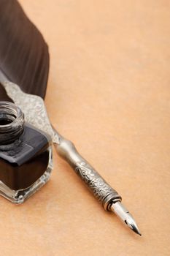
[[[71,141],[61,138],[59,145],[55,144],[55,146],[58,154],[72,166],[75,173],[88,186],[90,192],[103,204],[105,210],[109,211],[111,203],[121,201],[120,195],[78,153]]]

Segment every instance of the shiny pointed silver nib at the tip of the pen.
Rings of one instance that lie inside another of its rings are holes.
[[[122,203],[117,202],[117,203],[112,203],[112,206],[110,207],[110,210],[115,212],[115,214],[120,217],[120,219],[125,222],[125,224],[131,228],[136,234],[139,236],[142,236],[138,226],[136,225],[136,222],[132,215],[129,213],[129,211],[123,206]]]

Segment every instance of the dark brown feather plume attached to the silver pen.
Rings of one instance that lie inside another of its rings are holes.
[[[23,91],[44,98],[49,72],[47,44],[18,1],[0,0],[0,31],[0,71]],[[1,86],[0,99],[9,99]]]

